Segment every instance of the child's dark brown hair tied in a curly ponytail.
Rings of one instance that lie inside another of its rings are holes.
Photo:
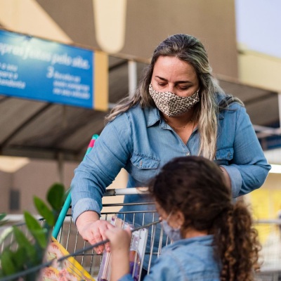
[[[166,214],[183,213],[183,236],[188,228],[214,235],[221,280],[254,280],[261,249],[257,231],[244,203],[233,204],[223,172],[214,162],[196,156],[175,158],[152,179],[149,190]]]

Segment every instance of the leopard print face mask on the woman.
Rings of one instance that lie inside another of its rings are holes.
[[[193,93],[192,96],[180,97],[171,92],[158,92],[149,86],[149,93],[155,102],[157,108],[165,115],[176,116],[188,112],[196,103],[199,102],[199,90]]]

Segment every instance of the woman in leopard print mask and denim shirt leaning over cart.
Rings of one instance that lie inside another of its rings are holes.
[[[112,228],[99,220],[101,198],[122,168],[129,173],[127,188],[142,187],[174,157],[201,155],[221,167],[233,198],[261,187],[270,170],[242,102],[216,84],[204,46],[190,35],[172,35],[157,46],[135,95],[107,121],[72,181],[72,216],[92,244]],[[124,199],[142,201],[142,195]]]

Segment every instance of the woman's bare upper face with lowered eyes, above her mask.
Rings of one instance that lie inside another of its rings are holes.
[[[169,56],[157,59],[151,83],[155,91],[169,91],[182,97],[192,96],[199,89],[197,74],[192,65]]]

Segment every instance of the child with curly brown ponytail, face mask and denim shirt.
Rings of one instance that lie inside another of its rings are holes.
[[[166,234],[173,241],[162,249],[146,280],[254,280],[260,244],[251,215],[233,204],[221,169],[203,157],[178,157],[152,180],[150,194]],[[112,280],[129,274],[129,230],[105,233],[112,251]]]

